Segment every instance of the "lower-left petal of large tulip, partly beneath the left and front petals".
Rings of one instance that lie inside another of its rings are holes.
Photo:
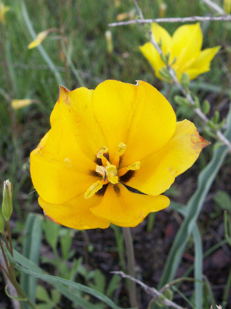
[[[50,204],[39,197],[39,205],[43,208],[44,214],[51,217],[56,223],[71,227],[77,230],[101,229],[110,225],[108,220],[96,217],[90,208],[97,205],[102,197],[94,196],[88,200],[84,194],[80,194],[63,204]]]

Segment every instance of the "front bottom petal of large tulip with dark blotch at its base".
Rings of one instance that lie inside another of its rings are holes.
[[[109,184],[102,200],[91,208],[91,212],[101,219],[119,226],[136,226],[153,211],[169,205],[164,195],[150,196],[132,193],[122,184]]]

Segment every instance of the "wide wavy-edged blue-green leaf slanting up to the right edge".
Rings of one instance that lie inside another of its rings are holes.
[[[229,109],[229,113],[227,115],[227,129],[225,132],[225,137],[231,140],[231,108]],[[164,286],[167,282],[174,278],[184,253],[184,248],[188,242],[189,236],[193,231],[193,226],[197,221],[207,193],[209,192],[213,180],[217,176],[217,173],[220,170],[222,163],[224,162],[226,154],[226,146],[214,147],[211,161],[200,172],[198,176],[197,190],[188,201],[187,216],[184,218],[184,221],[181,224],[180,229],[177,232],[175,240],[172,244],[172,248],[169,252],[159,287]]]

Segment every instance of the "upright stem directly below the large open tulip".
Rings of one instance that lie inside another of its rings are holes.
[[[128,274],[135,278],[135,255],[131,230],[129,227],[122,227],[122,230],[124,234],[125,250],[128,263]],[[138,307],[136,300],[136,283],[129,280],[128,284],[130,305],[132,307]]]

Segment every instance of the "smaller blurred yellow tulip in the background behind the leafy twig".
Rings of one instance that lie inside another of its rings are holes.
[[[203,35],[200,23],[180,26],[172,37],[157,23],[152,23],[152,34],[161,45],[163,53],[170,54],[169,64],[173,63],[172,68],[179,81],[183,72],[186,72],[192,80],[209,71],[210,62],[220,49],[220,46],[216,46],[201,50]],[[164,79],[160,70],[166,67],[166,64],[153,44],[148,42],[140,46],[140,50],[154,69],[156,77]]]

